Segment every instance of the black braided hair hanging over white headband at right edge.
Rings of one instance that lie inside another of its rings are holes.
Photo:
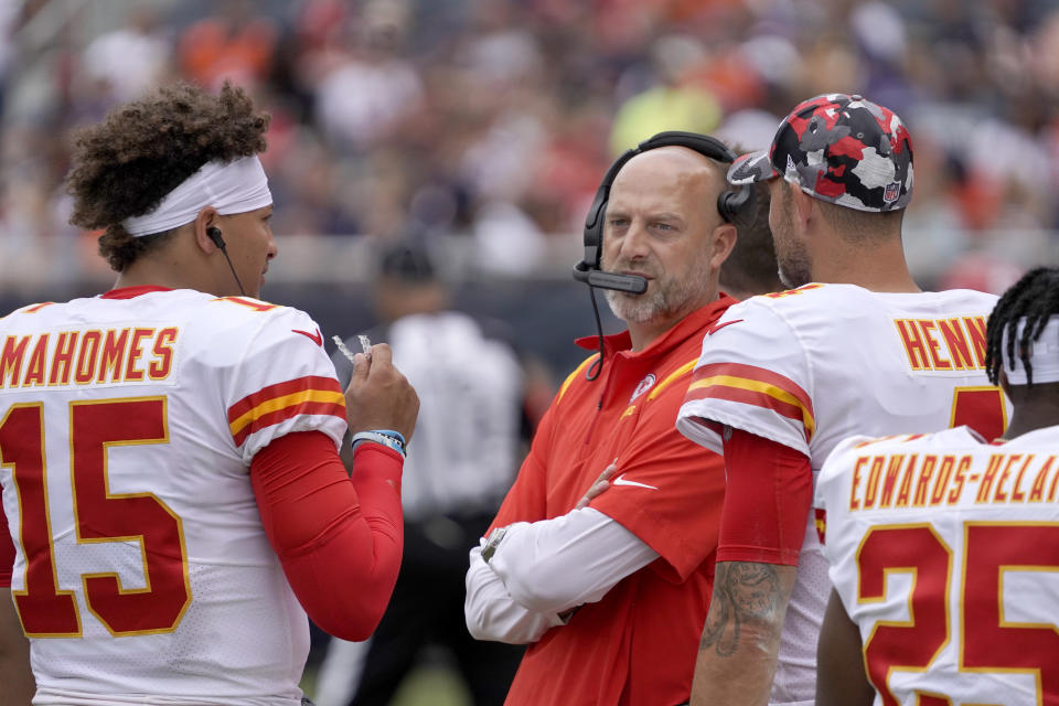
[[[1007,338],[1007,357],[1015,360],[1015,329],[1019,319],[1026,319],[1026,327],[1018,341],[1018,357],[1026,367],[1026,381],[1034,384],[1033,365],[1029,361],[1033,342],[1040,338],[1048,320],[1059,314],[1059,269],[1038,267],[1023,275],[1004,295],[993,313],[986,329],[985,371],[990,382],[998,384],[1001,366],[1004,364],[1004,331],[1012,330]]]

